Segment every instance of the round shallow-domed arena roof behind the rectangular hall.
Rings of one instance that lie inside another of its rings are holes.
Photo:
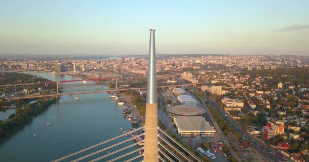
[[[206,112],[204,108],[193,105],[170,106],[167,108],[167,111],[180,116],[198,116],[203,115]]]

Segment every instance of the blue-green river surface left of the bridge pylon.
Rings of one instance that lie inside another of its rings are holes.
[[[42,76],[50,80],[79,79],[74,76],[58,75],[55,73],[27,73]],[[91,83],[93,82],[80,82],[79,84],[86,85]],[[78,87],[72,84],[77,83],[71,83],[70,86],[63,86],[64,91],[77,92],[96,90],[95,86],[81,86],[80,90],[78,90]],[[105,86],[98,87],[98,90],[105,89],[107,89]],[[79,97],[79,101],[74,100],[73,97]],[[10,109],[6,112],[0,112],[0,116],[8,116],[14,113],[14,111],[14,109]],[[47,123],[50,123],[50,126],[47,126]],[[58,103],[52,104],[46,111],[28,123],[22,130],[17,131],[12,137],[0,143],[0,161],[52,161],[121,135],[122,132],[120,127],[129,128],[132,126],[128,119],[123,117],[122,108],[117,105],[115,100],[110,98],[110,94],[98,93],[61,96]],[[34,136],[34,134],[36,134],[36,136]],[[118,138],[111,143],[90,149],[80,155],[73,156],[63,161],[71,161],[128,138],[129,137]],[[81,161],[89,161],[133,143],[133,140],[129,141],[126,144],[103,151]],[[101,161],[107,161],[108,159],[115,158],[137,148],[137,146],[134,146],[118,154],[111,155],[109,158],[104,158]],[[129,159],[137,154],[138,153],[132,154],[127,158],[122,158],[117,161]],[[139,158],[136,161],[141,160],[142,159]]]

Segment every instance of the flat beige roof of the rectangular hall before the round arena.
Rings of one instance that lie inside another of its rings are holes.
[[[176,116],[174,121],[181,131],[213,131],[214,128],[202,116]]]

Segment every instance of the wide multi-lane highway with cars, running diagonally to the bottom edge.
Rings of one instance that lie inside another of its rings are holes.
[[[236,132],[240,132],[248,143],[251,143],[252,147],[262,155],[267,161],[290,161],[289,159],[285,159],[280,156],[280,152],[270,148],[268,145],[256,140],[252,135],[244,131],[236,122],[225,113],[218,104],[213,101],[209,96],[206,97],[206,100],[209,101],[209,105],[214,107],[220,115],[234,128]]]

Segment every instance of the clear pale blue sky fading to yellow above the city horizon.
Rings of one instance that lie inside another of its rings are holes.
[[[0,55],[309,55],[309,1],[0,1]]]

